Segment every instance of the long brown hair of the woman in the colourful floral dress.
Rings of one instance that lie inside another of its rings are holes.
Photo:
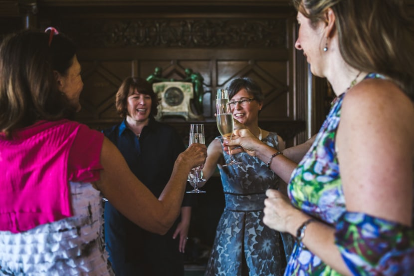
[[[390,77],[414,100],[414,24],[403,0],[293,0],[313,26],[332,8],[345,62]]]

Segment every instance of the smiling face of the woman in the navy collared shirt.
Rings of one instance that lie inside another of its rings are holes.
[[[150,95],[140,93],[135,89],[127,98],[127,119],[136,122],[148,121],[151,114],[151,104]]]

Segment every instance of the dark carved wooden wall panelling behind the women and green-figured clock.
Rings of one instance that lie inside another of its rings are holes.
[[[93,128],[120,120],[114,101],[125,77],[147,77],[160,66],[165,78],[183,78],[185,68],[202,74],[204,122],[212,129],[215,91],[239,76],[263,89],[261,127],[279,132],[288,145],[305,129],[296,108],[295,12],[288,0],[10,2],[28,27],[53,25],[78,45],[84,90],[75,119]],[[190,123],[166,121],[185,132]]]

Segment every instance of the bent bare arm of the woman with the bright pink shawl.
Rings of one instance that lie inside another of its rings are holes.
[[[202,165],[206,146],[191,145],[181,153],[173,173],[157,199],[130,171],[122,154],[106,137],[102,146],[101,179],[95,183],[109,202],[145,230],[165,234],[177,219],[190,169]]]

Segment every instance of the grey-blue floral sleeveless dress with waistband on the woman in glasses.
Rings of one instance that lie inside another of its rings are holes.
[[[262,140],[277,147],[274,132]],[[205,275],[240,276],[244,263],[250,276],[281,276],[292,250],[293,238],[268,228],[262,221],[265,192],[277,189],[279,179],[256,157],[244,152],[233,157],[242,164],[219,169],[225,208],[218,222]],[[229,155],[224,153],[224,159],[228,162]]]

